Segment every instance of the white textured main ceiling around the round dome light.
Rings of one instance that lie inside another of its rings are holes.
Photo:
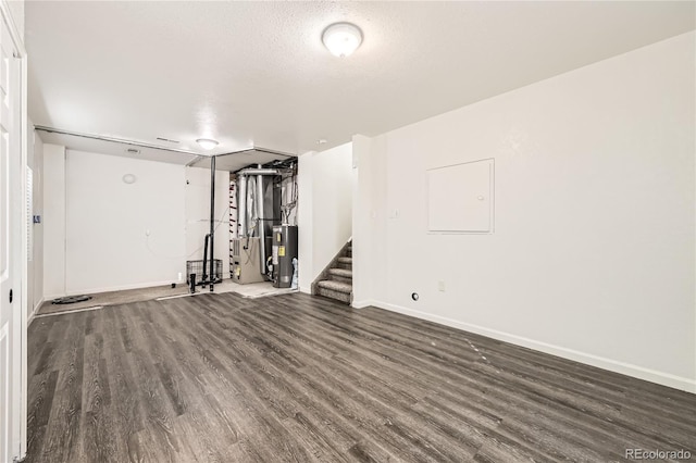
[[[212,137],[214,153],[302,153],[692,30],[695,4],[27,1],[29,116],[195,152]],[[321,42],[337,21],[363,30],[349,58]]]

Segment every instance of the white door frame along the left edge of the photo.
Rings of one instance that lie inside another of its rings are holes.
[[[20,240],[21,246],[20,249],[13,250],[14,258],[14,268],[15,268],[15,280],[18,284],[18,301],[17,304],[20,306],[18,316],[13,318],[13,326],[10,329],[13,330],[14,336],[13,339],[17,341],[13,341],[11,346],[11,355],[15,359],[15,365],[18,368],[15,368],[15,373],[13,375],[12,384],[10,386],[10,395],[12,396],[11,403],[18,399],[20,410],[12,410],[11,420],[12,423],[12,435],[10,445],[13,447],[12,453],[14,454],[14,459],[16,461],[21,461],[26,455],[26,423],[27,423],[27,342],[26,342],[26,334],[27,334],[27,277],[28,277],[28,265],[27,265],[27,250],[28,250],[28,217],[26,211],[26,171],[27,171],[27,136],[28,136],[28,127],[27,127],[27,55],[26,50],[24,48],[24,37],[23,34],[17,28],[16,22],[14,21],[14,16],[12,15],[12,10],[10,9],[7,0],[0,0],[0,21],[4,22],[7,25],[10,37],[12,38],[12,42],[15,49],[15,59],[18,60],[17,63],[17,90],[20,92],[18,96],[18,105],[20,111],[15,112],[18,116],[17,124],[20,125],[18,130],[18,153],[10,153],[10,157],[20,155],[20,182],[15,188],[18,188],[20,191],[15,191],[15,198],[18,198],[18,210],[20,213],[16,214],[14,209],[11,210],[10,213],[10,224],[14,221],[20,221]],[[18,347],[18,352],[16,352],[16,348]],[[18,372],[17,372],[18,370]]]

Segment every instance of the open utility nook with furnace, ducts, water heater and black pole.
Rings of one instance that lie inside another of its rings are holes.
[[[258,151],[259,149],[254,149]],[[229,170],[229,278],[247,285],[270,281],[275,288],[298,288],[297,158],[266,151],[263,164]],[[238,166],[240,153],[220,154],[194,161],[190,166],[209,163],[210,232],[206,235],[201,260],[186,262],[190,292],[197,286],[222,279],[223,250],[213,242],[217,229],[214,214],[215,172]]]

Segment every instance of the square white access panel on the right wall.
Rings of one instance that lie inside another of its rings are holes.
[[[493,159],[427,171],[427,230],[489,234],[494,230]]]

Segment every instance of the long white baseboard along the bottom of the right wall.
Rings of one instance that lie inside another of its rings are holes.
[[[656,370],[645,368],[643,366],[633,365],[625,362],[620,362],[612,359],[607,359],[591,353],[580,352],[573,349],[563,348],[560,346],[554,346],[546,342],[529,339],[522,336],[512,335],[509,333],[498,331],[496,329],[486,328],[483,326],[472,325],[457,320],[430,314],[426,312],[417,311],[413,309],[407,309],[400,305],[389,304],[381,301],[360,301],[365,305],[374,305],[380,309],[388,310],[391,312],[398,312],[403,315],[410,315],[415,318],[427,320],[428,322],[438,323],[440,325],[450,326],[452,328],[462,329],[477,335],[486,336],[499,341],[510,342],[517,346],[522,346],[529,349],[537,350],[540,352],[557,355],[563,359],[572,360],[575,362],[584,363],[587,365],[596,366],[598,368],[608,370],[610,372],[619,373],[626,376],[632,376],[638,379],[645,379],[646,381],[656,383],[662,386],[671,387],[674,389],[684,390],[687,392],[696,393],[696,379],[689,379],[682,376],[672,375]],[[357,306],[357,303],[353,303]]]

